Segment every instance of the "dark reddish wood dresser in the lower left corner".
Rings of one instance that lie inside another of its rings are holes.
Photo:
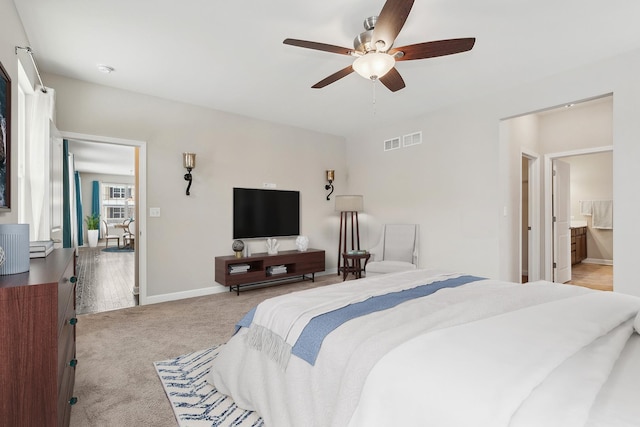
[[[75,251],[0,276],[0,426],[68,426],[76,366]]]

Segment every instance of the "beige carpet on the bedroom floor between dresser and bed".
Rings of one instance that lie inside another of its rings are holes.
[[[240,293],[78,316],[71,427],[177,425],[153,362],[225,343],[235,323],[272,296],[340,282],[336,274]],[[217,285],[219,286],[219,285]]]

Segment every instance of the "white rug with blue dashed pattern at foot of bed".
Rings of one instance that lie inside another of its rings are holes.
[[[264,427],[255,412],[238,408],[206,380],[218,347],[154,362],[180,427]]]

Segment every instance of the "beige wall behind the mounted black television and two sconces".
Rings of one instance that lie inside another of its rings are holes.
[[[149,297],[221,290],[214,257],[232,254],[233,187],[299,190],[301,232],[335,269],[337,215],[324,185],[325,170],[335,169],[336,193],[346,187],[342,138],[56,75],[44,80],[56,89],[61,131],[147,142],[147,206],[161,208],[160,218],[147,218]],[[184,151],[197,154],[191,196]],[[281,250],[295,249],[294,238],[281,242]],[[262,240],[250,245],[265,251]]]

